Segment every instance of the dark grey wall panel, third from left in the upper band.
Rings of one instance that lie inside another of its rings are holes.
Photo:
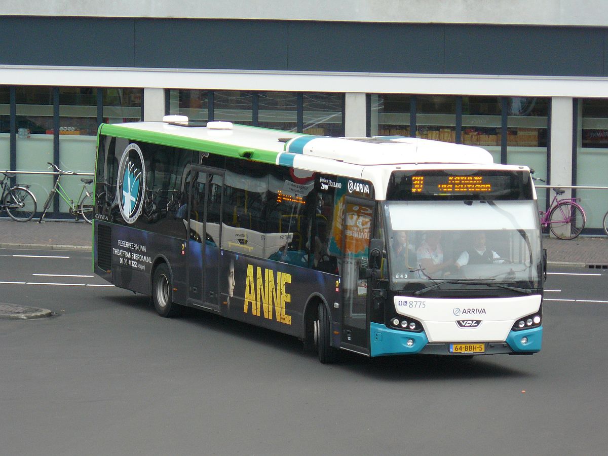
[[[443,73],[440,25],[289,22],[289,69]]]

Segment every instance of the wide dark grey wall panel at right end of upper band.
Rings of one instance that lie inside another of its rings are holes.
[[[447,74],[603,76],[595,28],[446,26]]]

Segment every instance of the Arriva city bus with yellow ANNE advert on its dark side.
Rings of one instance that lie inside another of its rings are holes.
[[[541,350],[546,254],[530,169],[483,148],[230,122],[102,124],[93,267],[289,334],[323,363]]]

